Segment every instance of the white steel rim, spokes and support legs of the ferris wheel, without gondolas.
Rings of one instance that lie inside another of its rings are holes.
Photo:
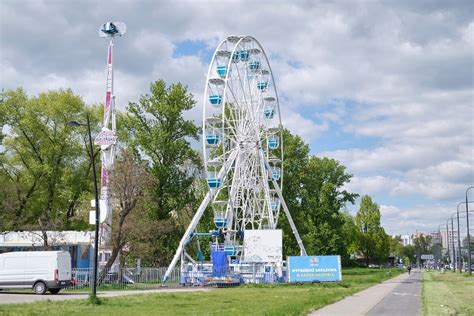
[[[225,74],[225,79],[222,79],[222,78],[217,78],[217,76],[214,75],[213,71],[215,70],[216,68],[216,58],[217,58],[217,54],[218,52],[220,51],[220,48],[227,45],[229,42],[233,41],[234,44],[231,44],[233,46],[232,50],[229,50],[228,52],[230,53],[230,58],[227,62],[227,73]],[[288,222],[290,224],[290,227],[292,229],[292,232],[296,238],[296,241],[298,243],[298,246],[300,248],[300,254],[301,255],[306,255],[306,250],[305,250],[305,247],[303,245],[303,242],[299,236],[299,233],[298,233],[298,230],[296,229],[296,226],[293,222],[293,219],[291,217],[291,214],[289,212],[289,209],[285,203],[285,200],[283,198],[283,195],[282,195],[282,191],[281,191],[281,187],[282,187],[282,183],[283,183],[283,129],[282,129],[282,124],[281,124],[281,113],[280,113],[280,105],[279,105],[279,99],[278,99],[278,93],[277,93],[277,89],[276,89],[276,85],[275,85],[275,80],[274,80],[274,77],[273,77],[273,72],[272,72],[272,69],[271,69],[271,66],[270,66],[270,63],[268,61],[268,57],[267,55],[265,54],[265,51],[263,50],[263,47],[260,45],[260,43],[254,38],[254,37],[251,37],[251,36],[241,36],[241,37],[236,37],[236,36],[230,36],[230,37],[227,37],[225,40],[223,40],[217,47],[217,49],[215,50],[214,54],[213,54],[213,57],[212,57],[212,60],[211,60],[211,63],[210,63],[210,66],[209,66],[209,69],[208,69],[208,75],[207,75],[207,79],[206,79],[206,87],[205,87],[205,91],[204,91],[204,102],[203,102],[203,155],[204,155],[204,162],[205,162],[205,170],[206,170],[206,176],[210,177],[211,174],[213,174],[215,176],[216,179],[218,179],[219,181],[222,180],[223,182],[223,185],[225,184],[228,184],[228,183],[225,183],[227,180],[228,180],[228,177],[229,177],[229,172],[231,171],[232,168],[236,169],[235,166],[240,166],[241,162],[238,161],[238,159],[242,159],[241,156],[242,156],[242,152],[239,151],[238,149],[237,150],[231,150],[229,152],[226,152],[225,151],[225,143],[223,143],[222,145],[222,148],[224,148],[223,152],[222,152],[222,155],[220,156],[220,161],[219,159],[217,159],[217,161],[211,161],[209,158],[216,158],[216,157],[210,157],[209,154],[208,154],[208,151],[210,150],[209,147],[206,145],[206,136],[207,136],[207,132],[209,131],[209,128],[210,128],[210,125],[206,125],[207,122],[208,122],[208,119],[209,117],[207,116],[207,109],[208,107],[210,106],[209,105],[209,88],[210,88],[210,82],[211,81],[214,81],[214,82],[217,82],[218,80],[221,81],[221,84],[224,85],[224,90],[222,91],[222,100],[221,100],[221,103],[222,103],[222,110],[221,110],[221,124],[222,124],[222,128],[221,130],[219,130],[220,132],[220,135],[222,137],[222,140],[221,141],[231,141],[230,138],[226,138],[226,135],[225,135],[225,127],[226,127],[226,118],[225,118],[225,111],[226,111],[226,107],[228,106],[228,102],[227,102],[227,95],[228,95],[228,91],[227,89],[229,88],[229,85],[228,85],[228,79],[229,79],[229,74],[231,73],[232,71],[232,64],[234,63],[232,61],[232,56],[234,56],[234,54],[236,53],[236,50],[240,47],[240,44],[243,43],[243,42],[253,42],[254,44],[256,44],[258,46],[258,49],[260,50],[260,53],[262,54],[263,56],[263,59],[265,61],[265,66],[268,68],[267,71],[268,73],[266,75],[269,76],[269,78],[271,78],[271,82],[270,80],[267,82],[268,83],[271,83],[271,87],[273,89],[273,97],[274,97],[274,106],[275,106],[275,110],[276,112],[278,112],[278,125],[277,125],[277,128],[275,129],[276,133],[279,134],[279,146],[280,146],[280,161],[279,161],[279,164],[280,164],[280,177],[278,179],[274,179],[272,177],[272,165],[270,164],[270,156],[269,156],[269,149],[268,149],[268,136],[271,135],[270,134],[270,131],[267,129],[265,130],[266,132],[266,144],[263,144],[262,142],[260,142],[259,144],[255,144],[255,150],[257,151],[257,154],[253,155],[253,158],[258,160],[258,163],[259,163],[259,166],[256,166],[256,168],[258,168],[260,171],[261,171],[261,183],[263,184],[263,188],[264,188],[264,195],[265,195],[265,202],[264,202],[264,205],[268,208],[268,223],[269,225],[267,226],[262,226],[262,218],[260,218],[260,224],[257,225],[257,227],[255,227],[255,222],[252,222],[250,223],[251,224],[251,228],[250,229],[275,229],[276,228],[276,225],[277,225],[277,222],[278,222],[278,216],[279,216],[279,211],[280,209],[283,209],[287,219],[288,219]],[[262,69],[263,70],[263,69]],[[238,71],[238,70],[237,70]],[[240,75],[240,73],[238,73],[238,75]],[[248,83],[248,81],[247,81]],[[256,84],[257,82],[254,82],[254,84]],[[255,86],[254,86],[255,88]],[[254,89],[252,88],[252,89]],[[249,88],[249,91],[251,91],[252,89]],[[245,89],[244,89],[245,90]],[[232,93],[232,91],[230,91],[229,93]],[[262,97],[263,98],[263,97]],[[237,97],[233,96],[233,99],[234,101],[239,101]],[[261,100],[260,100],[261,101]],[[249,104],[247,104],[249,105]],[[252,104],[250,104],[251,106]],[[265,103],[262,104],[262,106],[264,106]],[[262,108],[263,110],[263,108]],[[254,115],[254,117],[252,117],[252,119],[260,119],[263,121],[264,118],[263,118],[263,111],[262,113],[252,113],[252,111],[246,111],[246,115]],[[258,116],[258,118],[257,118]],[[248,120],[248,117],[246,118],[246,120]],[[240,124],[247,124],[248,122],[244,120],[244,122],[240,122]],[[252,123],[252,122],[251,122]],[[255,127],[255,122],[253,122],[253,127]],[[209,128],[208,128],[209,127]],[[261,125],[258,125],[257,126],[258,128],[261,127]],[[260,135],[260,131],[255,131],[257,133],[257,135]],[[238,135],[238,133],[234,133],[235,135],[241,137],[242,135]],[[245,135],[247,136],[247,135]],[[262,140],[262,139],[260,139]],[[239,145],[240,144],[235,144],[235,145]],[[248,149],[248,148],[251,148],[250,147],[245,147],[243,146],[244,148]],[[235,148],[235,147],[234,147]],[[242,148],[242,147],[241,147]],[[240,157],[240,158],[239,158]],[[219,158],[219,157],[217,157]],[[210,166],[215,163],[215,162],[218,162],[220,163],[220,168],[217,168],[217,169],[214,169],[214,170],[210,170]],[[243,163],[243,162],[242,162]],[[248,166],[247,166],[248,167]],[[209,204],[211,204],[211,206],[213,206],[213,204],[218,204],[219,202],[224,202],[224,203],[227,203],[227,210],[226,210],[226,213],[225,213],[225,216],[228,216],[228,211],[229,211],[229,205],[230,205],[230,209],[231,211],[233,212],[233,208],[234,208],[234,203],[235,201],[232,201],[232,198],[235,197],[235,192],[232,192],[233,189],[235,189],[237,186],[235,185],[235,180],[236,177],[233,177],[232,178],[232,183],[230,183],[230,192],[228,193],[228,201],[219,201],[218,200],[218,195],[219,195],[219,190],[221,188],[219,187],[216,187],[216,188],[210,188],[209,191],[207,192],[206,196],[204,197],[203,201],[201,202],[201,205],[199,206],[198,210],[196,211],[193,219],[191,220],[191,223],[189,224],[188,228],[186,229],[186,232],[185,234],[183,235],[180,243],[179,243],[179,246],[176,250],[176,253],[175,253],[175,256],[173,257],[173,260],[171,261],[164,277],[163,277],[163,282],[165,282],[168,278],[168,276],[171,274],[172,270],[174,269],[174,267],[176,266],[177,262],[179,259],[181,259],[181,269],[183,269],[184,267],[184,259],[185,257],[188,257],[189,258],[189,255],[186,253],[185,251],[185,246],[186,244],[189,242],[190,238],[192,237],[192,233],[195,231],[196,227],[197,227],[197,224],[199,223],[199,220],[201,219],[204,211],[206,210],[206,208],[208,207]],[[268,190],[270,190],[270,185],[269,184],[272,184],[273,188],[271,189],[272,191],[272,194],[274,194],[274,197],[277,197],[278,198],[278,210],[276,213],[273,213],[272,212],[272,209],[271,209],[271,201],[269,200],[270,198],[270,192]],[[247,185],[251,185],[251,183],[247,183]],[[253,205],[255,206],[255,205]],[[245,212],[244,212],[245,214]],[[233,215],[233,213],[231,214]],[[254,214],[255,215],[255,214]],[[273,216],[273,217],[272,217]],[[235,227],[235,226],[232,226],[232,224],[234,224],[232,221],[234,220],[234,218],[231,216],[229,218],[231,220],[231,225],[230,225],[230,230],[228,230],[229,234],[226,234],[226,240],[229,239],[229,236],[231,236],[231,234],[233,234],[234,236],[234,240],[235,240],[235,230],[232,230],[232,227]],[[242,219],[243,220],[243,227],[242,229],[246,229],[245,226],[246,223],[245,222],[245,219]],[[252,218],[252,221],[255,220],[255,216]]]

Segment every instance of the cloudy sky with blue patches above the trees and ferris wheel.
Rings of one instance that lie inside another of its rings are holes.
[[[186,116],[201,124],[217,44],[254,36],[283,125],[312,154],[347,167],[346,189],[373,197],[388,233],[430,232],[474,185],[473,12],[469,0],[0,0],[0,87],[30,96],[71,88],[104,102],[107,41],[98,29],[123,21],[117,106],[152,81],[181,82],[198,101]]]

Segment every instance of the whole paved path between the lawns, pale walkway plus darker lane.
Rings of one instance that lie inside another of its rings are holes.
[[[310,315],[419,315],[421,273],[399,275],[352,296],[325,306]]]

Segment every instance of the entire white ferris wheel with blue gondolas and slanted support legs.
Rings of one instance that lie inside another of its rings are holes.
[[[275,229],[283,209],[306,255],[283,199],[280,105],[267,55],[251,36],[229,36],[217,47],[205,84],[203,157],[209,191],[183,236],[164,280],[208,206],[224,251],[240,256],[245,230]]]

